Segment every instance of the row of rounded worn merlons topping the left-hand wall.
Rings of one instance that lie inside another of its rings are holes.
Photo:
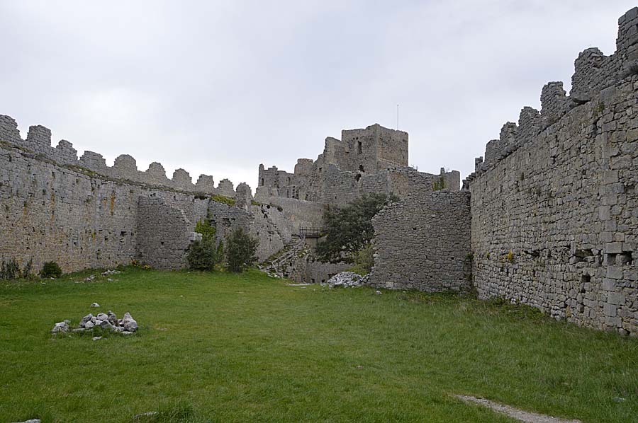
[[[26,139],[22,139],[16,120],[7,115],[0,115],[0,141],[26,149],[36,156],[60,165],[79,166],[111,179],[130,180],[185,192],[204,192],[209,195],[235,197],[233,182],[228,179],[221,180],[218,187],[215,187],[215,181],[211,175],[200,175],[197,182],[193,183],[191,175],[184,169],[175,170],[172,178],[169,179],[162,163],[153,162],[147,170],[141,171],[138,170],[135,158],[128,154],[118,156],[111,167],[106,166],[103,156],[94,151],[84,151],[78,158],[73,144],[65,139],[60,140],[55,148],[52,147],[51,130],[42,125],[29,127]]]

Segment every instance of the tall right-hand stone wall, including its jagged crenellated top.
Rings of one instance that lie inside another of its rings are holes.
[[[464,186],[481,298],[636,335],[638,8],[619,23],[617,52],[582,52],[571,95],[544,86]]]

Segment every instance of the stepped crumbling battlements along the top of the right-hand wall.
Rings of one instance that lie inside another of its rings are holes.
[[[605,56],[596,47],[578,54],[574,61],[569,95],[561,81],[545,84],[540,95],[540,112],[527,106],[522,108],[518,124],[507,122],[501,129],[500,139],[486,144],[485,159],[475,158],[475,171],[464,182],[493,168],[498,161],[525,145],[532,137],[559,122],[567,112],[589,103],[605,88],[638,74],[638,7],[627,11],[618,20],[616,47],[616,52],[610,56]]]

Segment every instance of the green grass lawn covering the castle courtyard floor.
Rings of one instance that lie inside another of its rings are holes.
[[[0,422],[510,422],[452,394],[638,422],[638,340],[470,296],[293,287],[256,271],[0,286]],[[89,308],[136,335],[52,337]],[[620,398],[624,398],[621,400]]]

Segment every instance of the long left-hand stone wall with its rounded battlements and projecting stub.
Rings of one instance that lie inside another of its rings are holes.
[[[159,163],[139,172],[130,156],[118,157],[113,168],[102,166],[96,153],[83,156],[94,163],[78,161],[67,141],[51,148],[44,127],[31,127],[22,140],[6,116],[0,116],[0,141],[0,260],[33,260],[35,270],[51,260],[65,272],[131,260],[184,267],[200,219],[216,226],[218,241],[245,228],[259,239],[257,257],[265,260],[301,226],[318,227],[323,216],[320,204],[297,199],[273,197],[281,205],[254,205],[250,187],[240,184],[235,192],[229,180],[213,187],[212,178],[202,176],[200,182],[210,182],[204,195],[201,183],[191,184],[185,172],[168,180]],[[236,205],[213,201],[213,194],[236,197]]]

